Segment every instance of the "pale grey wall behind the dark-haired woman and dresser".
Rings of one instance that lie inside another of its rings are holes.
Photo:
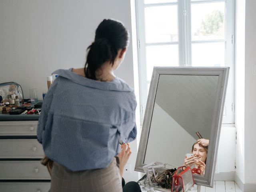
[[[84,66],[86,48],[104,18],[122,21],[130,32],[130,46],[116,75],[134,87],[129,0],[1,0],[0,83],[19,83],[26,98],[29,89],[36,88],[42,99],[46,76],[58,68]],[[134,169],[136,141],[131,147],[128,163]],[[138,180],[138,173],[132,171],[124,177]]]

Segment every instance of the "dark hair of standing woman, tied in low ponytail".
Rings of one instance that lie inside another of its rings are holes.
[[[87,78],[96,80],[95,72],[106,61],[112,65],[118,50],[126,48],[129,34],[121,22],[104,19],[96,29],[94,42],[87,48],[84,73]]]

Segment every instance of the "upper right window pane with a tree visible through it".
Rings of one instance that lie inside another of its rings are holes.
[[[225,2],[191,5],[191,36],[193,40],[225,38]]]

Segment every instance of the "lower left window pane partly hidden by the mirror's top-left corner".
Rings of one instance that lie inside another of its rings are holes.
[[[151,80],[154,66],[178,66],[178,45],[146,47],[147,80]]]

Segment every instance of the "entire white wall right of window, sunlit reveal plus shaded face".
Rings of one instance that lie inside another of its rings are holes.
[[[236,0],[236,182],[244,192],[256,189],[255,8],[255,0]]]

